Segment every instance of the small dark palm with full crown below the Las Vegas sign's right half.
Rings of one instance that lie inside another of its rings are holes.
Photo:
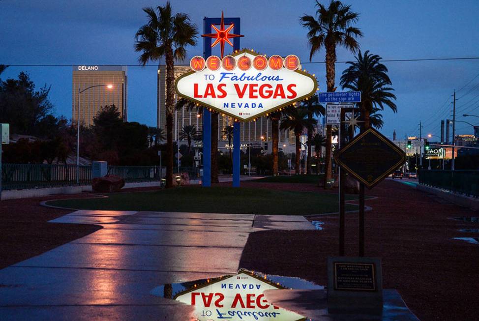
[[[317,123],[316,119],[308,118],[308,111],[304,108],[288,107],[285,110],[284,117],[281,120],[279,128],[281,130],[292,130],[295,133],[296,142],[296,175],[299,175],[299,161],[301,159],[301,142],[300,136],[304,129],[312,128]]]

